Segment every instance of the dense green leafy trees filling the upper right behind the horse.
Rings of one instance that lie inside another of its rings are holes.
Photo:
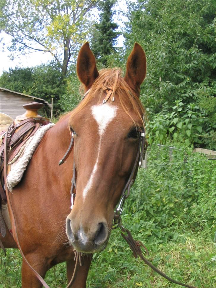
[[[140,0],[138,4],[130,4],[129,11],[125,45],[131,47],[137,41],[146,52],[148,72],[141,99],[150,109],[152,125],[164,122],[159,124],[163,126],[159,127],[162,131],[157,135],[161,137],[160,141],[171,134],[174,140],[186,144],[215,148],[216,34],[213,1]],[[182,111],[173,110],[177,101],[184,103]],[[194,131],[186,132],[191,130],[185,122],[188,116],[184,116],[190,114],[189,110],[196,111],[196,119],[205,121],[197,121],[193,124]],[[171,123],[173,112],[180,112],[178,117],[175,115],[178,121],[174,126]],[[156,126],[153,129],[153,134],[156,134]]]

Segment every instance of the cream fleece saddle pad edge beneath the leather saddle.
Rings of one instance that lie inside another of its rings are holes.
[[[28,166],[28,162],[31,159],[37,145],[44,136],[45,132],[55,124],[50,123],[45,126],[41,126],[35,134],[28,139],[28,141],[20,149],[18,155],[15,156],[8,164],[10,164],[10,172],[7,175],[7,187],[10,191],[20,182],[23,177],[23,173]]]

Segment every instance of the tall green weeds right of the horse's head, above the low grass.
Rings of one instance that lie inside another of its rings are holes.
[[[176,146],[169,162],[169,148],[152,145],[148,167],[139,171],[127,203],[126,211],[134,215],[132,229],[144,237],[164,241],[186,230],[216,227],[216,163]]]

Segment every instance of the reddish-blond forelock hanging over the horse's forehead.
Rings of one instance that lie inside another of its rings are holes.
[[[130,110],[134,112],[134,114],[142,121],[143,123],[143,115],[144,115],[144,107],[140,99],[134,94],[129,85],[126,83],[124,78],[122,77],[122,70],[120,68],[113,69],[102,69],[99,71],[99,76],[94,81],[90,91],[85,96],[85,98],[80,102],[80,104],[72,111],[71,117],[69,120],[69,124],[71,122],[72,117],[80,112],[88,103],[95,97],[95,95],[99,95],[98,102],[104,99],[104,90],[107,87],[112,88],[112,94],[109,98],[109,102],[112,102],[112,97],[115,98],[115,94],[118,95],[118,99],[120,101],[120,105],[126,114],[134,121],[135,125],[139,124],[137,121],[131,117]],[[84,91],[84,85],[80,87],[80,91]],[[83,95],[83,93],[82,93]]]

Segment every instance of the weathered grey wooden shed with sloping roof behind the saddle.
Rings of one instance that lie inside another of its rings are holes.
[[[16,116],[25,113],[26,110],[23,108],[23,105],[31,102],[43,103],[45,108],[51,108],[51,104],[44,99],[0,87],[0,112],[11,116],[13,119],[15,119]],[[44,111],[39,111],[39,113],[42,116],[44,115]]]

